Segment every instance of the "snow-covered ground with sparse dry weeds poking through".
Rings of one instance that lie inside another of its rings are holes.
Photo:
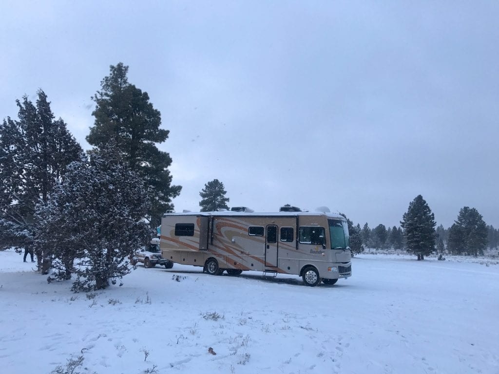
[[[66,373],[82,356],[74,373],[499,374],[497,263],[352,262],[351,278],[315,288],[139,266],[93,295],[3,251],[0,372]]]

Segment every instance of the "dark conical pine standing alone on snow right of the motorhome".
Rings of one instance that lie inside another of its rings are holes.
[[[435,215],[430,207],[418,195],[409,203],[400,225],[404,229],[407,251],[423,259],[435,250]]]

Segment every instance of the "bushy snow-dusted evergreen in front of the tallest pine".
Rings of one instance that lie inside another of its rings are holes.
[[[130,272],[126,257],[152,234],[143,221],[148,196],[120,151],[102,147],[88,162],[72,163],[48,201],[37,206],[34,246],[52,248],[56,278],[76,274],[73,291],[107,288]]]

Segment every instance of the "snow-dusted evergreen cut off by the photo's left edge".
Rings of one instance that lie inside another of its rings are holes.
[[[37,91],[36,104],[24,96],[16,100],[18,120],[7,117],[0,126],[0,241],[4,245],[30,247],[36,221],[35,204],[46,202],[68,164],[83,150],[66,128],[55,120],[47,96]],[[38,267],[44,252],[36,253]]]

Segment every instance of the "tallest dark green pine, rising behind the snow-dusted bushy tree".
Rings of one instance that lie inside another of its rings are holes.
[[[109,76],[101,81],[101,90],[93,97],[95,121],[86,139],[97,149],[114,140],[131,170],[139,172],[145,185],[151,187],[147,216],[151,227],[156,227],[161,215],[173,209],[171,199],[179,195],[182,187],[172,186],[168,170],[172,159],[156,147],[169,134],[160,129],[161,113],[153,108],[147,92],[128,82],[127,72],[128,66],[121,62],[110,66]]]

